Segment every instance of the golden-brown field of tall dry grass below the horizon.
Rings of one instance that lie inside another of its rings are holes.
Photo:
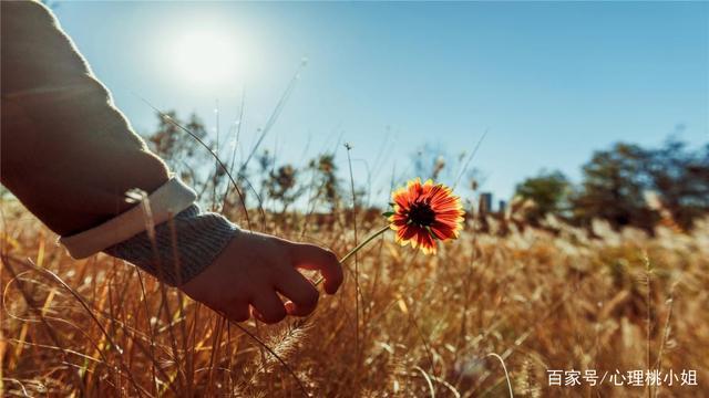
[[[469,216],[435,256],[389,233],[358,253],[359,298],[352,259],[311,317],[247,334],[122,261],[72,260],[14,202],[2,216],[4,396],[709,395],[709,220],[655,237],[596,222],[589,238],[554,220],[490,218],[483,232]],[[346,216],[274,216],[265,232],[341,256],[354,245]],[[358,220],[360,241],[386,222]],[[698,386],[556,387],[548,369],[693,369]]]

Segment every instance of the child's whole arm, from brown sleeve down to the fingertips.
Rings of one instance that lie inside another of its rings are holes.
[[[185,203],[191,190],[175,188],[167,167],[132,132],[51,12],[31,1],[0,4],[1,181],[71,243],[70,251],[101,250],[131,261],[235,321],[251,310],[269,323],[312,312],[318,291],[297,269],[321,271],[326,292],[337,291],[342,271],[331,252],[243,231]],[[165,187],[176,190],[161,197]],[[155,227],[153,239],[130,230],[141,212],[125,200],[133,188],[160,197],[164,212],[179,211]],[[111,241],[126,228],[130,238]],[[169,266],[189,272],[169,274]],[[277,292],[289,301],[284,304]]]

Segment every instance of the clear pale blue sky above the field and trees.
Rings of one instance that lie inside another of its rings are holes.
[[[296,164],[336,148],[345,170],[341,138],[353,145],[358,182],[369,172],[382,190],[394,169],[414,177],[421,146],[456,157],[486,129],[472,167],[499,198],[542,168],[578,180],[592,151],[618,140],[659,145],[675,132],[709,142],[707,2],[60,2],[54,11],[136,130],[156,123],[138,96],[194,111],[209,128],[218,100],[224,137],[245,93],[245,151],[307,57],[264,148]],[[184,59],[212,48],[226,67]]]

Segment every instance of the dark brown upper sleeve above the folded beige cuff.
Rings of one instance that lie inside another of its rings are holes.
[[[109,91],[34,1],[0,1],[0,179],[62,235],[134,206],[124,193],[168,180],[163,161],[113,105]]]

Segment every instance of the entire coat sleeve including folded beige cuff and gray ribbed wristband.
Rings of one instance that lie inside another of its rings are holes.
[[[2,184],[74,258],[103,251],[172,285],[201,273],[238,228],[169,178],[47,8],[0,7]]]

